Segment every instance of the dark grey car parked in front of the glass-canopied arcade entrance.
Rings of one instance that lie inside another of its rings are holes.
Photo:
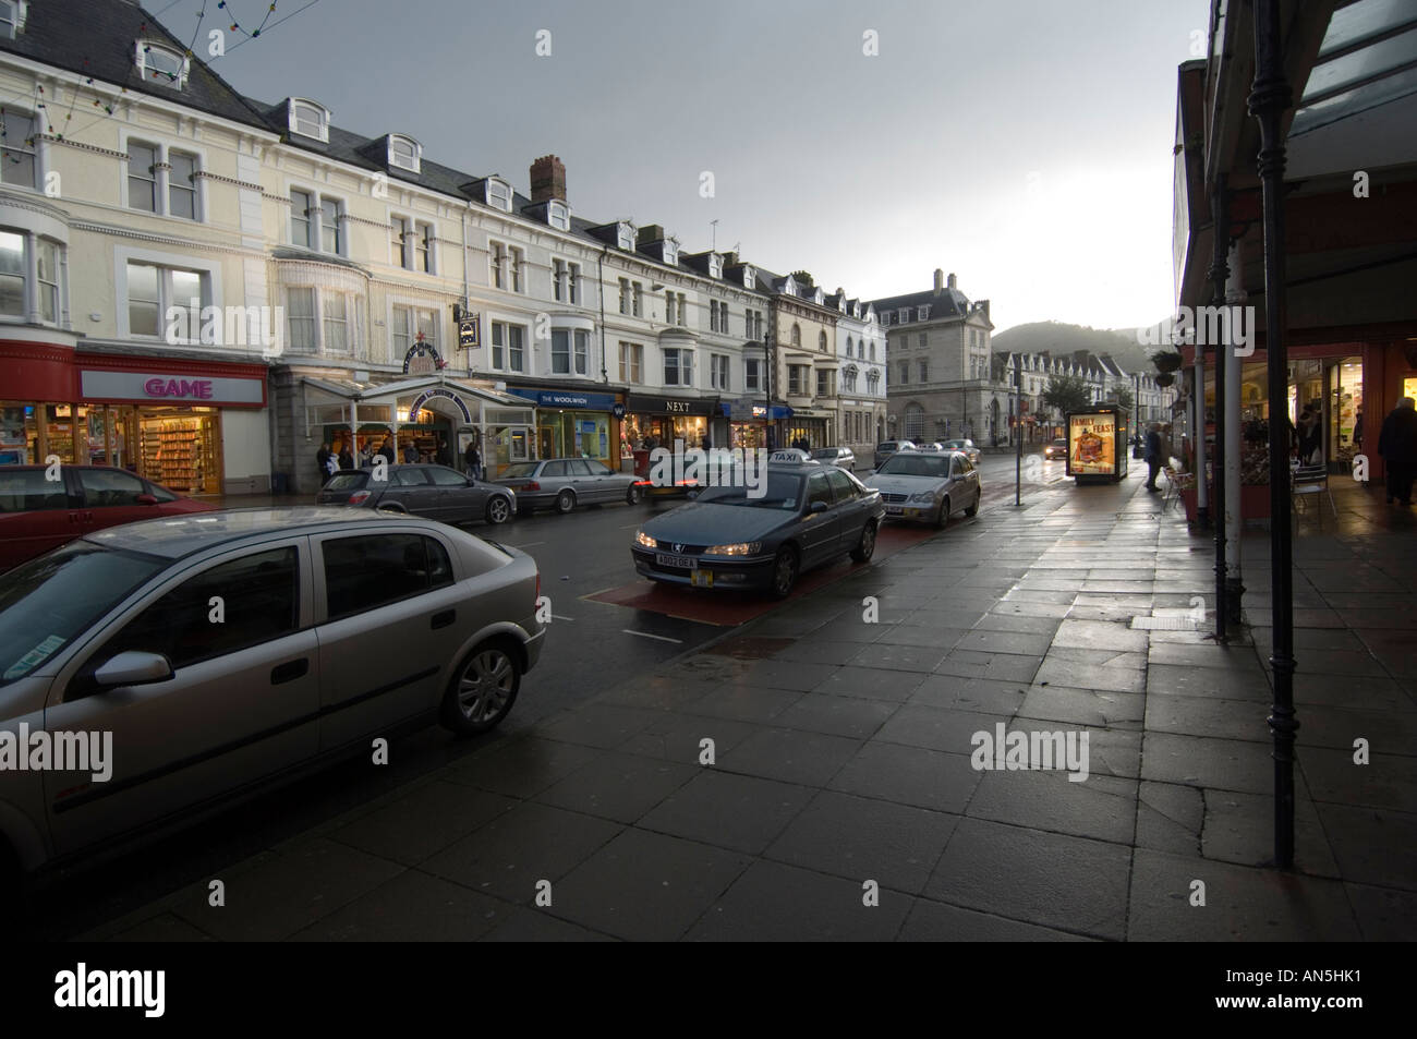
[[[354,505],[363,509],[407,512],[411,516],[472,523],[506,523],[517,509],[517,496],[496,483],[478,481],[446,465],[390,465],[385,479],[376,471],[340,469],[316,495],[316,505]]]

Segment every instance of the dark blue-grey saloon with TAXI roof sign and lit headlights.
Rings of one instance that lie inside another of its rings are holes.
[[[805,570],[876,551],[880,496],[820,464],[768,464],[761,496],[708,488],[696,502],[635,532],[635,568],[652,581],[699,588],[761,588],[786,597]]]

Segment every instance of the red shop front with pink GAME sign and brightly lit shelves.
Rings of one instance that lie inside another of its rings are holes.
[[[0,465],[57,458],[128,469],[186,495],[269,490],[264,364],[0,353],[9,353]]]

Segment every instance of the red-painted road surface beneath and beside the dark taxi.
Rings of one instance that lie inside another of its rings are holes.
[[[920,544],[937,532],[922,524],[886,523],[876,536],[876,554],[873,558],[894,556],[903,549]],[[628,551],[628,550],[626,550]],[[581,598],[595,602],[608,602],[631,610],[648,610],[652,614],[665,614],[682,621],[697,621],[699,624],[713,624],[720,628],[731,628],[747,624],[755,617],[775,610],[782,602],[791,602],[798,595],[806,595],[818,588],[854,573],[862,567],[845,558],[826,567],[811,570],[798,578],[796,588],[786,600],[775,600],[767,592],[735,591],[731,588],[689,588],[677,584],[660,584],[640,577],[618,588],[605,588]]]

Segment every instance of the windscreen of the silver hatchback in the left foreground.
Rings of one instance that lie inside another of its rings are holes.
[[[167,560],[74,541],[0,575],[0,686],[79,638]]]

